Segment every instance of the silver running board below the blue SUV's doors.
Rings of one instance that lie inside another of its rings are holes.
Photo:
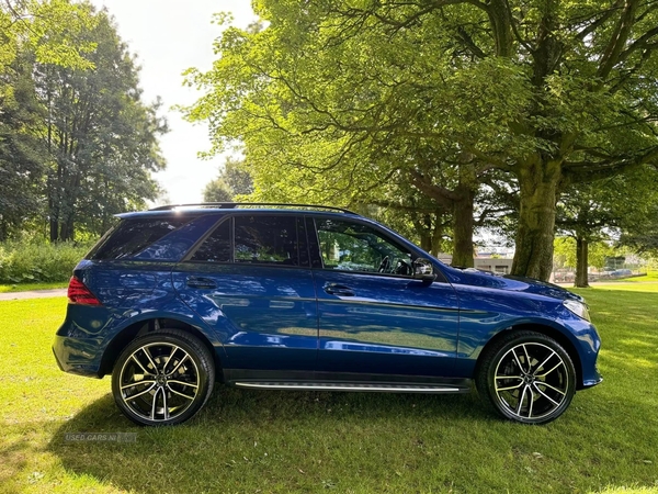
[[[370,391],[378,393],[469,393],[469,388],[446,385],[416,385],[389,383],[350,383],[350,382],[234,382],[238,388],[258,388],[261,390],[297,391]]]

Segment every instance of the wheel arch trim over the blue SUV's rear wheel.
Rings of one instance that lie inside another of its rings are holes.
[[[141,319],[123,328],[117,335],[114,336],[114,338],[112,338],[105,348],[103,357],[101,358],[99,377],[102,378],[105,374],[112,373],[114,363],[116,363],[116,359],[123,349],[131,344],[131,341],[139,336],[157,333],[160,328],[182,329],[195,336],[213,356],[216,379],[218,380],[222,377],[222,361],[219,360],[219,357],[215,351],[215,347],[208,337],[197,326],[175,317],[154,317],[149,319]]]

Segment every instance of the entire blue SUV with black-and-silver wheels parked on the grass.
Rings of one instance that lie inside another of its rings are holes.
[[[544,424],[601,382],[585,301],[445,266],[336,207],[195,204],[121,214],[73,270],[54,352],[112,374],[141,425],[180,424],[216,381],[269,390],[465,393]]]

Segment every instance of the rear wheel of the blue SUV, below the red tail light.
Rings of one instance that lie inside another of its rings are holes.
[[[179,329],[161,329],[122,351],[112,373],[112,394],[122,413],[139,425],[181,424],[207,402],[215,383],[209,350]]]

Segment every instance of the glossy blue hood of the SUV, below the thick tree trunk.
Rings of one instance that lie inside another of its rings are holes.
[[[546,281],[535,280],[533,278],[514,277],[511,274],[498,274],[491,271],[483,271],[474,268],[458,269],[447,267],[445,273],[449,281],[453,284],[467,284],[473,287],[483,287],[498,290],[508,290],[510,292],[526,292],[537,295],[549,296],[558,300],[577,300],[583,302],[582,296],[572,293],[557,284]]]

